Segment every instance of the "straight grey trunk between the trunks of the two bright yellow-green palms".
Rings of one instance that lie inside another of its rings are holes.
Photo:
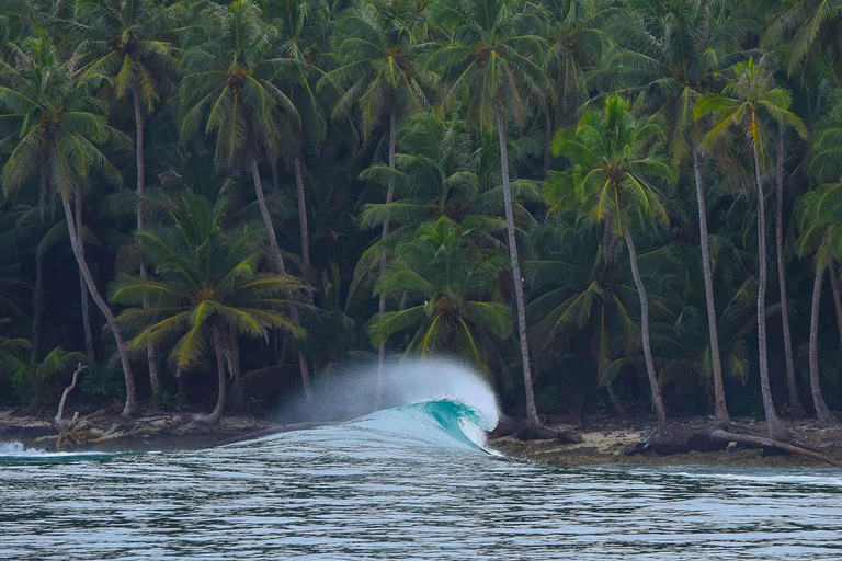
[[[702,157],[698,142],[693,139],[693,172],[696,179],[696,203],[698,205],[698,239],[702,247],[702,271],[705,277],[705,304],[707,305],[707,331],[710,337],[710,362],[714,369],[714,423],[727,426],[728,407],[725,402],[722,382],[722,359],[719,354],[719,332],[716,327],[716,305],[714,302],[714,275],[710,267],[710,247],[707,234],[707,208],[705,207],[705,186],[702,180]]]

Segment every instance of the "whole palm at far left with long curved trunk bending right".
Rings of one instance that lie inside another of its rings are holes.
[[[37,175],[42,186],[46,183],[60,199],[73,256],[117,343],[126,382],[123,414],[133,415],[137,398],[128,351],[120,325],[84,261],[81,229],[76,225],[71,207],[79,181],[87,178],[92,168],[102,170],[114,181],[120,180],[120,172],[96,148],[118,136],[105,123],[106,107],[92,95],[101,79],[80,76],[75,59],[60,62],[46,38],[26,41],[16,60],[15,67],[0,65],[5,81],[5,85],[0,87],[0,104],[20,123],[16,138],[7,139],[14,148],[3,168],[3,183],[9,193]]]

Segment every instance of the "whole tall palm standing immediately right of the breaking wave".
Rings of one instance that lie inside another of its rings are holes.
[[[439,15],[453,30],[451,42],[428,60],[428,67],[439,72],[446,84],[443,103],[450,105],[465,100],[468,121],[478,123],[481,128],[497,128],[526,390],[526,422],[530,427],[536,427],[541,425],[541,420],[535,408],[530,368],[526,305],[515,239],[507,126],[510,117],[524,118],[531,101],[553,93],[553,84],[542,67],[545,41],[537,34],[543,22],[532,4],[508,4],[503,0],[462,0],[441,8]]]

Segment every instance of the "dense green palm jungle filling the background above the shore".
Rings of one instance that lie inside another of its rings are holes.
[[[0,39],[0,404],[83,363],[215,422],[451,356],[533,425],[842,409],[837,0],[2,0]]]

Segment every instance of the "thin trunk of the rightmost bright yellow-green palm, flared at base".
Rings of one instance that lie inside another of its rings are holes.
[[[754,119],[752,115],[752,129]],[[760,389],[763,394],[763,409],[766,413],[766,430],[769,436],[776,440],[788,439],[789,435],[781,425],[781,420],[775,412],[775,402],[772,400],[772,388],[769,383],[769,356],[766,353],[766,210],[763,196],[763,182],[760,178],[760,154],[754,137],[749,131],[751,142],[751,156],[754,163],[754,183],[758,190],[758,354],[760,366]]]

